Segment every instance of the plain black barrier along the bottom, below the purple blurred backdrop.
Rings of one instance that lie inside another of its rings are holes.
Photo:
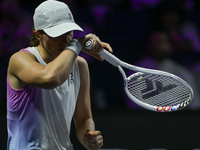
[[[0,115],[0,149],[6,150],[5,113]],[[149,150],[193,150],[200,148],[199,112],[156,113],[129,109],[112,109],[93,113],[96,129],[104,137],[103,148]],[[75,137],[72,124],[71,141],[75,150],[84,149]]]

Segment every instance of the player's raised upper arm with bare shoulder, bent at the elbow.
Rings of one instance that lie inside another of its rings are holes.
[[[15,89],[21,89],[26,85],[48,87],[46,75],[44,66],[38,63],[31,53],[20,51],[10,58],[8,77],[11,86]]]

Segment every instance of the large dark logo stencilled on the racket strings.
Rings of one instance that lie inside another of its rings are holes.
[[[169,85],[163,86],[162,82],[155,81],[156,88],[154,88],[152,80],[145,79],[145,82],[146,82],[147,87],[141,91],[141,93],[143,94],[142,95],[143,99],[151,98],[153,96],[156,96],[156,95],[163,93],[163,92],[167,92],[167,91],[178,86],[176,84],[169,84]]]

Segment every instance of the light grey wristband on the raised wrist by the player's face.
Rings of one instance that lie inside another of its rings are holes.
[[[72,50],[74,53],[76,53],[76,56],[78,56],[78,54],[81,51],[81,44],[79,43],[79,41],[77,39],[72,39],[67,46],[65,47],[65,49],[70,49]]]

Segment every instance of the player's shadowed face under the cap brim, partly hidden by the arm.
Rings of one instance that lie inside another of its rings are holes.
[[[43,48],[54,57],[57,57],[63,49],[67,46],[67,44],[73,38],[73,31],[67,32],[59,37],[52,38],[48,36],[46,33],[41,34],[41,42]]]

